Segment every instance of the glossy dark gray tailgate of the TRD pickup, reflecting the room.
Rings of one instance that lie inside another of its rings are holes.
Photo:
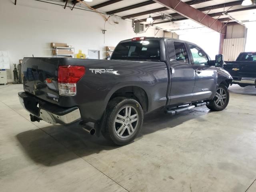
[[[58,66],[61,58],[24,58],[22,80],[24,90],[36,97],[56,104]]]

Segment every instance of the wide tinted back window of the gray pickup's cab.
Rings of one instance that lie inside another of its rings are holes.
[[[160,60],[158,40],[124,42],[116,46],[111,59],[117,60]]]

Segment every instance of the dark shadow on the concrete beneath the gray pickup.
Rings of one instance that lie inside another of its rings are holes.
[[[210,111],[206,107],[196,108],[176,116],[164,114],[161,110],[152,112],[145,116],[142,131],[136,140],[158,130],[173,128],[193,118],[204,121],[205,119],[200,116],[208,112]],[[82,128],[74,125],[51,125],[19,133],[16,138],[32,160],[45,166],[54,166],[79,156],[89,156],[102,150],[120,147],[105,140],[103,136],[99,138],[90,136]]]

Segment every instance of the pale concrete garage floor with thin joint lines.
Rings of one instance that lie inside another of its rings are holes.
[[[116,147],[78,127],[32,123],[22,85],[0,86],[1,192],[255,192],[256,89],[230,87],[222,112],[146,116]]]

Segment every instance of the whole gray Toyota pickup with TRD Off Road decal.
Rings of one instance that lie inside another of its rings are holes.
[[[222,55],[210,60],[190,42],[139,37],[121,41],[110,60],[24,58],[18,96],[32,122],[76,122],[124,145],[156,109],[174,115],[203,105],[226,108],[232,77],[223,63]]]

